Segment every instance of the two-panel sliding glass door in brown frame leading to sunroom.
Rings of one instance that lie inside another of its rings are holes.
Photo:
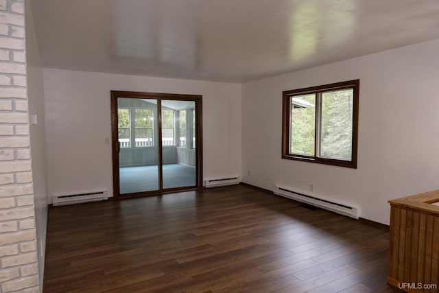
[[[112,91],[117,197],[202,186],[201,97]]]

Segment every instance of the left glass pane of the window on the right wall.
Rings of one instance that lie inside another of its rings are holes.
[[[316,136],[316,95],[291,97],[291,139],[292,154],[314,155]]]

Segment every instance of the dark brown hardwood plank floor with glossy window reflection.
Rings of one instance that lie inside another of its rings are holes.
[[[388,234],[242,185],[51,207],[45,292],[400,292]]]

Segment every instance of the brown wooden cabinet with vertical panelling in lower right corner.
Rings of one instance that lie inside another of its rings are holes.
[[[388,283],[439,292],[439,190],[390,200]]]

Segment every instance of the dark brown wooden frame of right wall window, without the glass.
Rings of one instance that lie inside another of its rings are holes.
[[[351,161],[341,159],[331,159],[319,156],[318,148],[320,148],[320,115],[318,111],[320,107],[316,107],[316,135],[314,142],[314,155],[292,154],[290,152],[290,134],[291,134],[291,98],[297,95],[316,94],[316,104],[320,103],[320,94],[337,91],[342,89],[353,89],[353,133],[352,133],[352,157]],[[311,86],[304,89],[294,89],[283,91],[282,101],[282,159],[305,161],[311,163],[335,165],[340,167],[348,167],[357,169],[357,146],[358,146],[358,113],[359,113],[359,80],[350,80],[346,82],[337,82],[333,84],[325,84],[322,86]],[[319,116],[319,117],[318,117]]]

